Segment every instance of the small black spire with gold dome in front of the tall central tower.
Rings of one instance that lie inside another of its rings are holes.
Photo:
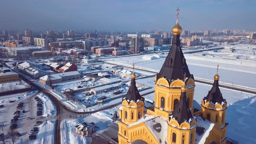
[[[185,77],[186,74],[184,74]],[[174,108],[174,111],[171,113],[170,118],[175,118],[179,124],[182,124],[184,121],[189,121],[190,118],[193,118],[190,108],[187,105],[187,86],[185,84],[181,87],[181,98],[177,106]]]

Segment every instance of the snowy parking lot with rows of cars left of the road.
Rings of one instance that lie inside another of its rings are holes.
[[[46,118],[41,117],[44,114],[43,104],[41,100],[36,101],[35,96],[23,101],[3,104],[0,108],[0,124],[3,124],[0,133],[7,134],[8,129],[13,127],[21,134],[20,143],[33,143],[29,140],[29,136],[36,135],[40,125],[46,121]],[[36,137],[30,136],[30,138]]]

